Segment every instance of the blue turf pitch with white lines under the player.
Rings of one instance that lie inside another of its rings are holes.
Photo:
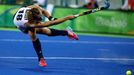
[[[29,37],[0,31],[0,75],[125,75],[134,71],[134,38],[79,35],[41,39],[48,67],[38,66]]]

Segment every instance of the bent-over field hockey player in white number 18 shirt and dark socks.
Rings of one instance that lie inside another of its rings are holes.
[[[41,16],[47,17],[49,21],[42,22]],[[36,37],[36,34],[68,36],[71,39],[78,40],[77,35],[72,31],[48,28],[49,26],[57,25],[74,18],[76,18],[74,15],[59,19],[53,18],[45,9],[36,4],[20,8],[15,14],[13,21],[19,30],[30,36],[33,47],[38,56],[39,65],[45,67],[47,66],[47,63],[43,57],[41,43],[39,38]]]

